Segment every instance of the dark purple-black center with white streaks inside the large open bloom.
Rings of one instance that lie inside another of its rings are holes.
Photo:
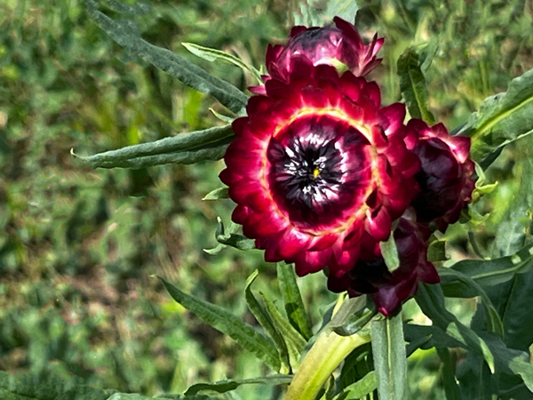
[[[291,220],[329,224],[366,188],[368,144],[361,132],[329,116],[293,122],[267,149],[276,203]]]

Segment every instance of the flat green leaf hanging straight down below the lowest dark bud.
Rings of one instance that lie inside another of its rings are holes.
[[[407,396],[407,360],[402,313],[372,321],[370,335],[379,398],[403,400]]]

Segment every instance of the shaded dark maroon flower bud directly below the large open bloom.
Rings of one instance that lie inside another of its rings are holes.
[[[394,242],[398,250],[400,266],[390,272],[380,253],[372,260],[358,260],[354,268],[344,276],[328,276],[328,288],[332,292],[348,291],[350,297],[368,293],[378,311],[394,315],[402,301],[413,296],[418,282],[437,284],[440,279],[434,265],[427,260],[426,241],[430,231],[414,220],[415,212],[409,209],[394,229]]]

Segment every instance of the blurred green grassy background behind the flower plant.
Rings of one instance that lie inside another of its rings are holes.
[[[385,104],[401,100],[395,60],[402,52],[438,44],[426,74],[430,108],[450,130],[533,68],[531,1],[359,3],[363,36],[378,31],[386,37],[383,66],[371,76]],[[298,9],[296,1],[281,0],[152,5],[151,15],[135,17],[147,41],[243,90],[253,83],[240,69],[197,59],[180,43],[233,52],[259,67],[267,44],[282,43]],[[59,374],[147,395],[264,374],[253,356],[180,308],[153,277],[164,276],[251,324],[242,295],[246,277],[259,268],[256,289],[277,296],[275,268],[261,252],[203,252],[216,245],[217,216],[229,222],[233,208],[228,200],[201,201],[221,186],[223,162],[94,171],[70,156],[71,148],[89,155],[210,127],[220,123],[209,108],[227,111],[124,53],[84,7],[81,0],[0,0],[0,370],[44,379]],[[531,140],[521,143],[531,146]],[[519,148],[506,148],[490,168],[489,180],[500,184],[475,206],[492,212],[479,225],[485,250],[520,186],[527,152]],[[472,253],[464,228],[447,235],[454,259]],[[300,283],[318,324],[334,296],[322,274]],[[467,321],[475,301],[449,306]],[[425,322],[412,302],[406,313]],[[431,351],[411,356],[412,396],[444,398],[439,368]],[[269,392],[238,393],[247,399]]]

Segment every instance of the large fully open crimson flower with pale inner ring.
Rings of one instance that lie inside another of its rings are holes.
[[[417,193],[419,161],[403,141],[404,106],[380,102],[376,83],[305,58],[251,97],[220,180],[267,261],[342,275],[389,236]]]

